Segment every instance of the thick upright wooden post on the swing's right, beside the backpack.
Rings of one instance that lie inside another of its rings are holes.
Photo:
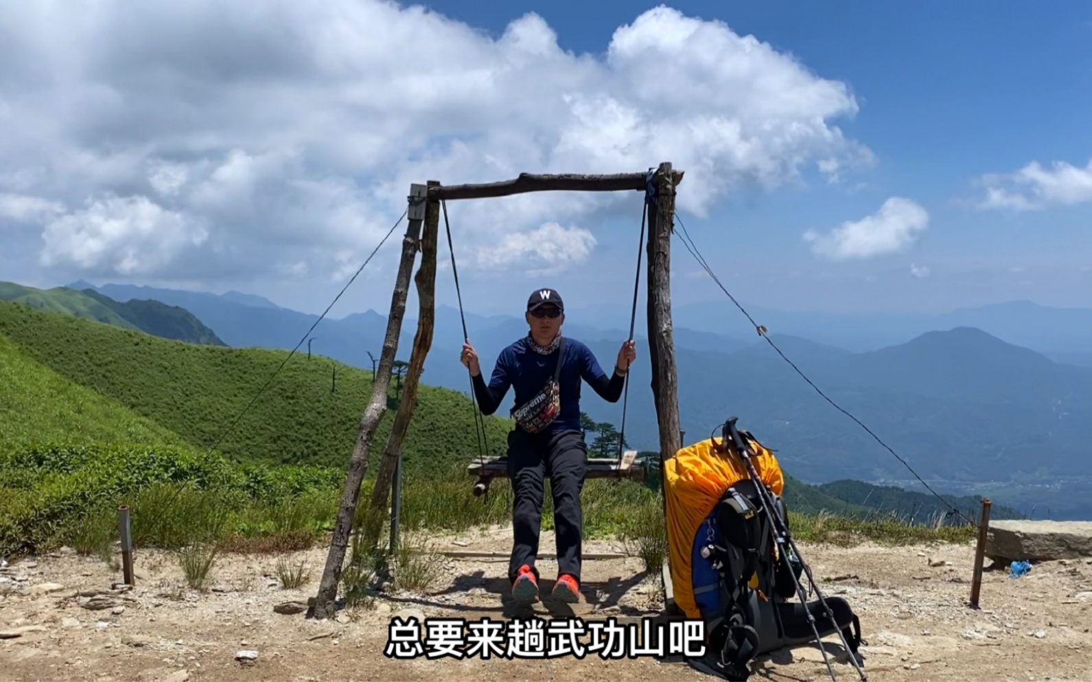
[[[675,231],[675,187],[681,176],[672,172],[669,163],[656,170],[654,203],[649,206],[649,359],[652,362],[652,395],[660,424],[660,489],[667,517],[667,459],[682,447],[679,428],[678,381],[675,366],[675,338],[672,325],[670,259]],[[670,555],[661,572],[666,611],[676,610],[670,589]]]

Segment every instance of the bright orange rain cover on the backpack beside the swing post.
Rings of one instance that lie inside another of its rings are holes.
[[[759,478],[774,494],[781,495],[785,479],[781,465],[773,453],[762,446],[755,436],[740,431],[749,441],[751,450],[758,453],[751,459]],[[713,439],[688,445],[664,463],[667,502],[667,545],[672,560],[672,588],[675,603],[687,618],[701,618],[693,599],[693,583],[690,579],[690,557],[693,537],[709,513],[713,511],[721,495],[737,481],[747,478],[747,467],[736,454],[729,441],[727,452],[714,451]],[[717,443],[719,446],[719,443]]]

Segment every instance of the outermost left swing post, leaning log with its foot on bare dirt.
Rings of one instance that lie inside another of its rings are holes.
[[[406,213],[410,220],[405,237],[402,239],[402,260],[399,263],[399,274],[394,280],[391,314],[387,319],[387,336],[383,338],[383,350],[379,357],[379,371],[372,380],[371,399],[364,414],[360,415],[360,428],[345,477],[345,492],[342,493],[333,537],[330,540],[330,551],[327,554],[327,565],[322,572],[322,581],[319,583],[318,595],[314,597],[313,615],[319,620],[327,619],[334,612],[334,601],[337,597],[337,586],[341,584],[349,533],[353,529],[356,504],[360,496],[360,483],[364,482],[364,476],[368,472],[371,439],[376,434],[379,421],[387,411],[387,392],[391,383],[391,368],[394,366],[394,356],[399,350],[399,334],[402,332],[402,318],[405,314],[406,297],[410,292],[410,276],[417,256],[417,243],[420,236],[420,225],[425,218],[425,196],[427,193],[428,188],[424,184],[413,184],[410,188],[410,208]]]

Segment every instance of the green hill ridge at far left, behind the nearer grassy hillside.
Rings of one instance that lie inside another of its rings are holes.
[[[104,296],[90,286],[83,289],[72,287],[35,289],[0,282],[0,300],[25,303],[38,310],[64,312],[76,318],[191,344],[227,345],[185,308],[154,299],[121,302]]]

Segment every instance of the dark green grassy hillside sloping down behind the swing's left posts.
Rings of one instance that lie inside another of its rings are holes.
[[[214,443],[287,355],[185,344],[8,302],[0,302],[0,333],[36,361],[200,447]],[[296,355],[219,450],[238,460],[344,466],[370,392],[370,372]],[[392,420],[388,410],[372,453],[385,444]],[[490,451],[503,447],[507,422],[486,421]],[[477,454],[470,402],[422,386],[403,450],[407,474],[465,466]]]

